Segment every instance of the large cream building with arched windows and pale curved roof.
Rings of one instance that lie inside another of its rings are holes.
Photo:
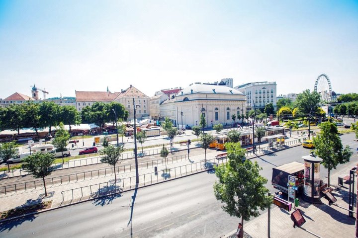
[[[245,94],[227,86],[194,83],[178,93],[176,99],[177,122],[188,126],[199,125],[201,114],[207,127],[231,125],[232,114],[246,112]]]

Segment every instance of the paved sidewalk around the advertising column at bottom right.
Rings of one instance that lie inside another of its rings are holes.
[[[351,161],[347,164],[347,166],[345,166],[344,169],[332,173],[331,181],[338,181],[338,176],[349,174],[350,168],[352,168],[356,162],[357,161]],[[357,194],[357,177],[355,180],[354,191]],[[332,185],[337,188],[332,192],[332,194],[337,198],[337,204],[348,209],[349,184],[345,184],[345,187],[338,186],[335,183],[332,183],[331,186]],[[306,220],[306,223],[302,225],[302,228],[323,238],[355,237],[355,218],[349,217],[348,211],[342,208],[334,205],[329,206],[328,201],[325,198],[321,198],[321,201],[321,204],[310,204],[303,200],[299,201],[299,206],[297,208],[302,211]],[[356,205],[357,204],[355,204],[354,211],[356,211]],[[295,211],[293,207],[294,206],[292,205],[291,212]],[[278,208],[273,204],[271,205],[270,237],[316,238],[316,236],[311,235],[300,228],[293,228],[293,222],[290,219],[290,213]],[[356,214],[354,216],[356,217]],[[241,219],[238,220],[241,221]],[[260,215],[258,218],[244,223],[244,231],[252,238],[267,238],[267,211]],[[236,229],[229,234],[234,234],[235,232]]]

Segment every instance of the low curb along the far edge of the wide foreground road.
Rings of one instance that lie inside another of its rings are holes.
[[[287,150],[287,149],[290,149],[290,148],[293,148],[293,147],[297,147],[297,146],[301,146],[301,144],[294,145],[294,146],[288,147],[288,148],[284,148],[284,149],[279,150],[279,151],[284,151],[284,150]],[[197,148],[199,148],[199,147],[197,147]],[[263,154],[263,155],[260,155],[260,156],[265,156],[265,155],[273,154],[273,153],[276,153],[276,152],[279,152],[279,151],[270,152],[270,153]],[[252,158],[249,158],[249,159],[258,158],[258,157],[260,157],[260,156],[255,156],[255,157],[252,157]],[[84,165],[84,166],[86,166],[86,165]],[[211,168],[210,168],[210,169],[211,169]],[[144,185],[144,186],[138,187],[138,189],[139,189],[139,188],[145,188],[145,187],[153,186],[153,185],[156,185],[156,184],[161,184],[161,183],[164,183],[164,182],[169,182],[169,181],[172,181],[172,180],[176,180],[176,179],[179,179],[179,178],[191,176],[191,175],[194,175],[194,174],[206,172],[206,171],[208,171],[208,170],[210,170],[210,169],[205,169],[205,170],[202,170],[202,171],[199,171],[199,172],[194,172],[194,173],[191,173],[191,174],[186,174],[186,175],[183,175],[183,176],[180,176],[180,177],[177,177],[177,178],[169,179],[169,180],[166,180],[166,181],[161,181],[161,182],[154,183],[154,184]],[[96,197],[96,198],[87,199],[87,200],[84,200],[84,201],[78,201],[78,202],[70,203],[70,204],[63,205],[63,206],[59,206],[59,207],[56,207],[56,208],[49,208],[49,209],[41,210],[41,211],[38,211],[38,212],[32,212],[32,213],[24,214],[24,215],[17,216],[17,217],[11,217],[11,218],[7,218],[7,219],[3,219],[3,220],[0,219],[0,224],[1,224],[1,223],[4,223],[4,222],[7,222],[7,221],[12,221],[12,220],[16,220],[16,219],[23,218],[23,217],[26,217],[26,216],[30,216],[30,215],[40,214],[40,213],[44,213],[44,212],[48,212],[48,211],[53,211],[53,210],[56,210],[56,209],[60,209],[60,208],[64,208],[64,207],[68,207],[68,206],[72,206],[72,205],[76,205],[76,204],[80,204],[80,203],[92,201],[92,200],[95,200],[95,199],[98,199],[98,198],[102,198],[102,197],[106,197],[106,196],[111,196],[111,195],[115,195],[115,194],[119,194],[119,193],[123,193],[123,192],[129,192],[129,191],[132,191],[132,190],[135,190],[135,189],[136,189],[136,188],[131,188],[131,189],[128,189],[128,190],[126,190],[126,191],[115,192],[115,193],[112,193],[112,194],[107,194],[107,195],[99,196],[99,197]]]

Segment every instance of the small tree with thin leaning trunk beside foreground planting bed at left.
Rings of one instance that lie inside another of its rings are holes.
[[[27,156],[22,159],[22,168],[25,169],[29,174],[32,174],[34,178],[42,178],[45,197],[47,197],[45,177],[50,175],[55,167],[51,165],[55,161],[53,154],[36,152],[31,156]]]

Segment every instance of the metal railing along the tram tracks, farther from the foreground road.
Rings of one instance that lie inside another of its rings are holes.
[[[167,164],[178,162],[179,160],[182,161],[183,159],[184,160],[186,159],[186,155],[171,157],[171,158],[167,159]],[[138,168],[139,169],[147,169],[147,168],[151,168],[154,166],[163,165],[164,163],[165,163],[165,159],[156,159],[156,160],[138,163]],[[119,165],[116,167],[116,173],[119,174],[119,173],[131,172],[132,169],[135,170],[135,164]],[[52,177],[52,178],[45,178],[45,183],[47,185],[54,186],[55,184],[63,184],[63,183],[75,182],[78,180],[92,179],[93,177],[99,178],[99,176],[101,176],[101,175],[104,175],[104,177],[105,177],[107,175],[113,175],[113,173],[114,173],[113,167],[102,168],[102,169],[81,172],[81,173],[73,173],[73,174],[68,174],[68,175],[63,175],[63,176]],[[0,194],[6,195],[7,193],[14,193],[14,192],[16,193],[18,191],[27,191],[30,189],[36,189],[38,187],[43,187],[42,179],[34,180],[34,181],[30,181],[30,182],[0,186]]]

